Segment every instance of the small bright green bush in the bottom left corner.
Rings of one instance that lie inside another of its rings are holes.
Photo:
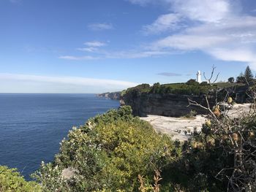
[[[0,166],[0,191],[34,192],[42,190],[37,183],[24,180],[17,172],[17,169],[8,169],[7,166]]]

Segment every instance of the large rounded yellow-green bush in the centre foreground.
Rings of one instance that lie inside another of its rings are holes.
[[[151,186],[155,171],[178,157],[179,148],[131,113],[130,107],[110,110],[69,131],[55,161],[35,176],[44,191],[138,191],[139,174]],[[67,168],[74,177],[61,175]]]

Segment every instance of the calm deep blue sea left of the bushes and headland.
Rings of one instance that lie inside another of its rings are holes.
[[[72,126],[118,106],[94,94],[0,94],[0,165],[29,180],[41,161],[53,161]]]

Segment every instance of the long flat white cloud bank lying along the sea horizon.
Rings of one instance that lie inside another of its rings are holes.
[[[120,91],[138,83],[85,77],[49,77],[30,74],[0,74],[1,93],[96,93]]]

